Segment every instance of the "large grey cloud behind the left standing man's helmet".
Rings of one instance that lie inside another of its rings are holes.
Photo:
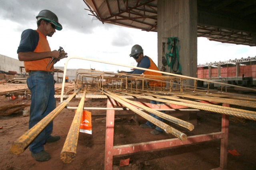
[[[0,18],[20,24],[19,30],[28,26],[36,27],[36,16],[41,10],[54,12],[62,24],[63,29],[75,30],[84,34],[93,32],[94,27],[102,26],[102,22],[94,20],[86,4],[73,0],[0,0]],[[92,23],[92,24],[88,24]]]

